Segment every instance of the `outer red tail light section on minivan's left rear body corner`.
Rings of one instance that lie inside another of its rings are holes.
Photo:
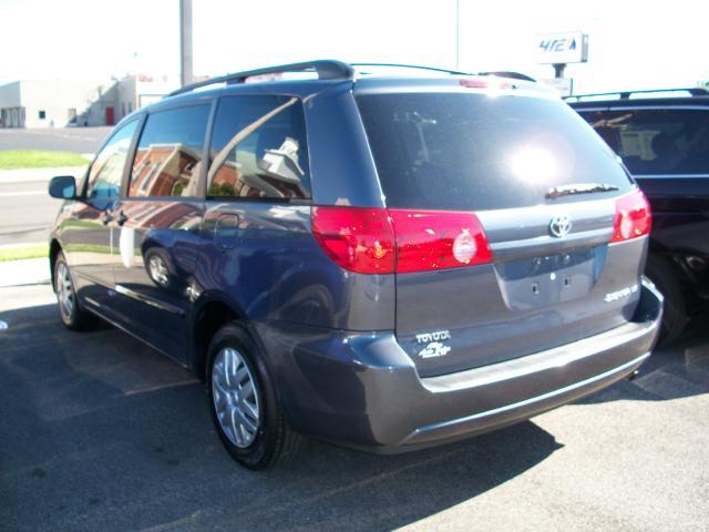
[[[394,229],[383,208],[314,207],[312,234],[345,269],[358,274],[394,272]]]

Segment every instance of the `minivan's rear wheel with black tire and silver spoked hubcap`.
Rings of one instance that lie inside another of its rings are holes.
[[[256,342],[240,324],[228,324],[214,336],[206,375],[212,420],[237,462],[263,470],[300,451],[305,439],[286,423]]]

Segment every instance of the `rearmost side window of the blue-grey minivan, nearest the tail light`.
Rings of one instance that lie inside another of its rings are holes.
[[[209,153],[210,197],[310,197],[305,117],[297,98],[223,98]]]

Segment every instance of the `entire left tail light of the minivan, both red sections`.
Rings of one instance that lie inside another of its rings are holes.
[[[492,262],[472,213],[314,207],[312,233],[339,266],[359,274],[460,268]]]

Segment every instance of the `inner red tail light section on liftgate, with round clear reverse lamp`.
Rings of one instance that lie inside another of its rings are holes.
[[[472,213],[389,209],[397,236],[397,272],[460,268],[492,262]]]

